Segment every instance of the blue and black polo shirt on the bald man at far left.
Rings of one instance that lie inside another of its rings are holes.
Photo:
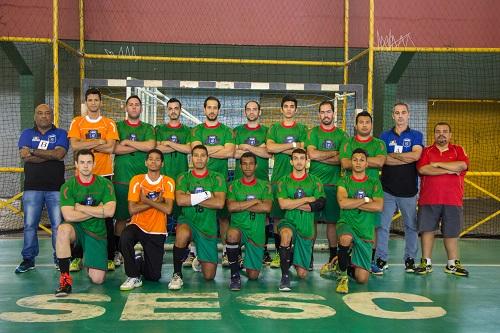
[[[69,149],[68,133],[52,126],[45,134],[36,127],[27,128],[19,137],[19,149],[54,150],[62,147]],[[47,160],[41,163],[26,162],[24,164],[24,190],[25,191],[59,191],[64,184],[64,161]]]

